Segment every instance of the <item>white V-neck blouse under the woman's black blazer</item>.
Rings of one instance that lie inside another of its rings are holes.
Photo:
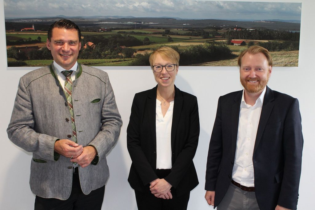
[[[163,117],[161,101],[156,101],[156,138],[157,138],[157,165],[156,169],[172,168],[171,129],[174,101],[169,102],[169,109]]]

